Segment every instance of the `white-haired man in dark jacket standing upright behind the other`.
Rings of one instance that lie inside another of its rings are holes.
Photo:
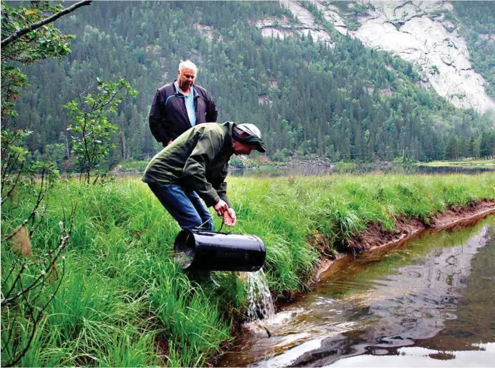
[[[196,65],[180,62],[177,80],[156,91],[149,127],[155,139],[167,147],[187,129],[203,122],[216,122],[218,110],[208,91],[194,84]]]

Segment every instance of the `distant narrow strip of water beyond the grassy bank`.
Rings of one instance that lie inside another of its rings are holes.
[[[290,176],[290,175],[328,175],[328,174],[482,174],[495,173],[495,167],[452,167],[424,165],[355,165],[355,166],[317,166],[298,165],[288,167],[259,167],[257,169],[231,169],[232,176]]]

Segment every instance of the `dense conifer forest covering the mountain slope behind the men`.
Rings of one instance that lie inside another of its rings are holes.
[[[455,109],[423,89],[411,64],[342,35],[335,35],[335,48],[310,37],[263,38],[254,24],[266,17],[292,19],[275,1],[96,1],[60,19],[55,26],[75,35],[72,53],[24,69],[30,87],[13,119],[33,131],[26,139],[32,158],[71,168],[63,106],[91,91],[97,77],[123,77],[139,92],[112,118],[119,129],[105,165],[151,158],[160,145],[149,131],[149,107],[156,89],[174,80],[181,59],[198,65],[196,83],[212,93],[218,121],[258,125],[274,160],[494,156],[493,116]],[[467,26],[474,35],[477,25]],[[494,55],[474,54],[474,67],[493,73]]]

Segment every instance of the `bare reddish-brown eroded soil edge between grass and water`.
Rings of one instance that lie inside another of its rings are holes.
[[[358,237],[351,239],[348,243],[340,248],[337,255],[328,255],[328,246],[326,239],[321,234],[315,234],[309,240],[310,242],[322,250],[320,264],[315,274],[313,282],[317,282],[322,273],[324,273],[333,264],[335,259],[344,257],[345,255],[357,255],[362,252],[371,252],[377,248],[384,246],[397,246],[412,237],[416,237],[424,230],[433,232],[449,230],[451,228],[471,226],[474,221],[483,219],[489,214],[495,213],[494,199],[480,199],[464,207],[450,207],[445,212],[437,213],[428,221],[420,221],[419,219],[406,219],[405,217],[396,219],[395,226],[392,230],[383,228],[379,223],[371,223],[367,226],[365,232],[359,234]],[[290,299],[290,298],[289,298]],[[283,301],[281,301],[283,303]]]

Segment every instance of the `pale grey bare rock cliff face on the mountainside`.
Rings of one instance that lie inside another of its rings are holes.
[[[413,63],[422,76],[422,86],[433,88],[454,106],[473,108],[483,113],[495,109],[495,102],[485,92],[484,78],[469,62],[467,43],[458,33],[451,16],[452,5],[446,1],[358,1],[359,11],[343,12],[323,0],[312,0],[335,29],[357,37],[367,47],[386,50]],[[266,37],[287,37],[294,33],[311,34],[315,42],[332,39],[315,17],[296,1],[281,0],[297,18],[266,19],[257,24]],[[350,29],[348,20],[357,21]]]

